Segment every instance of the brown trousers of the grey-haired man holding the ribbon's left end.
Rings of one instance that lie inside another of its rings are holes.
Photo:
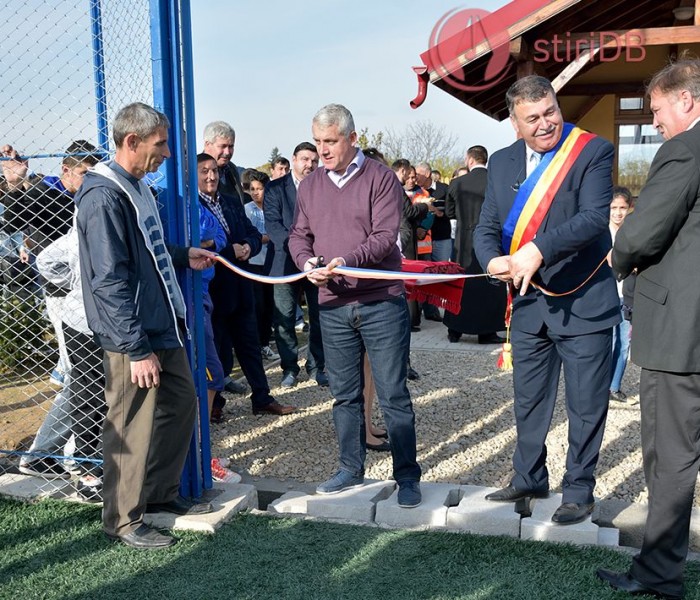
[[[197,414],[192,371],[184,348],[158,350],[160,385],[131,382],[126,354],[105,351],[107,418],[102,434],[102,523],[124,535],[143,521],[146,504],[178,495]]]

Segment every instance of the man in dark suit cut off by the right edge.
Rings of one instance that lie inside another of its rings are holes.
[[[615,238],[612,264],[636,269],[632,360],[642,367],[642,457],[649,514],[628,573],[599,570],[616,589],[683,595],[700,466],[700,61],[679,60],[649,83],[654,127],[666,139]]]

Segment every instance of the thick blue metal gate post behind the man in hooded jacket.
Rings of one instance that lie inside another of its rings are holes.
[[[191,32],[189,28],[189,0],[151,0],[151,45],[153,59],[154,104],[171,122],[170,148],[172,157],[162,168],[164,193],[163,223],[169,243],[183,246],[199,245],[199,200],[196,179],[196,139],[194,131],[194,94],[192,92]],[[186,13],[187,18],[183,18]],[[185,49],[189,51],[186,51]],[[191,237],[190,237],[191,233]],[[200,429],[190,445],[183,471],[181,492],[186,496],[200,496],[203,485],[211,487],[209,461],[209,429],[206,382],[206,359],[203,335],[203,306],[201,277],[187,272],[180,277],[187,302],[188,327],[191,339],[187,351],[194,373],[199,397]],[[203,479],[202,466],[206,479]]]

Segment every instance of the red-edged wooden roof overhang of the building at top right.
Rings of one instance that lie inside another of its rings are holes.
[[[469,87],[486,83],[486,68],[493,56],[489,42],[484,40],[483,35],[486,20],[483,26],[472,25],[467,28],[466,34],[462,34],[462,40],[470,40],[471,47],[459,48],[453,39],[457,36],[453,36],[442,42],[445,44],[443,49],[438,45],[437,50],[432,49],[421,55],[430,83],[480,112],[502,120],[508,116],[506,90],[518,77],[529,73],[544,75],[555,82],[559,95],[592,96],[613,93],[615,90],[626,90],[628,93],[643,90],[644,81],[650,73],[641,66],[626,69],[624,78],[614,84],[598,85],[594,82],[584,85],[577,82],[581,75],[601,64],[600,52],[609,53],[613,45],[624,47],[625,40],[632,39],[626,36],[632,32],[642,36],[645,47],[700,43],[700,26],[678,23],[673,15],[673,9],[680,5],[694,5],[697,21],[700,19],[700,0],[554,0],[539,4],[541,6],[532,10],[533,3],[529,0],[515,0],[487,17],[501,23],[512,22],[506,28],[507,37],[499,39],[500,43],[509,45],[509,64],[501,76],[495,78],[495,84],[478,91],[460,89],[453,84],[455,80],[469,84]],[[474,31],[469,31],[471,29]],[[591,32],[614,33],[619,43],[611,41],[607,49],[591,52],[592,56],[589,57],[577,55],[579,60],[575,64],[572,64],[573,60],[554,60],[553,56],[549,60],[541,60],[544,54],[540,51],[538,55],[535,49],[551,51],[551,43],[543,42],[551,42],[555,35],[575,44],[577,40],[590,39]],[[435,64],[435,56],[448,56],[451,60]]]

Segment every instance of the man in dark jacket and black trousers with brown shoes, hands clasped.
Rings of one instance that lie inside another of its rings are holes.
[[[238,200],[218,191],[219,170],[215,163],[216,159],[205,152],[197,155],[199,201],[226,232],[226,246],[221,249],[221,256],[245,269],[248,259],[260,252],[262,236]],[[294,407],[280,404],[270,395],[260,353],[252,282],[217,263],[209,293],[214,305],[211,315],[214,343],[224,374],[233,368],[235,351],[252,390],[253,414],[287,415],[293,412]]]

